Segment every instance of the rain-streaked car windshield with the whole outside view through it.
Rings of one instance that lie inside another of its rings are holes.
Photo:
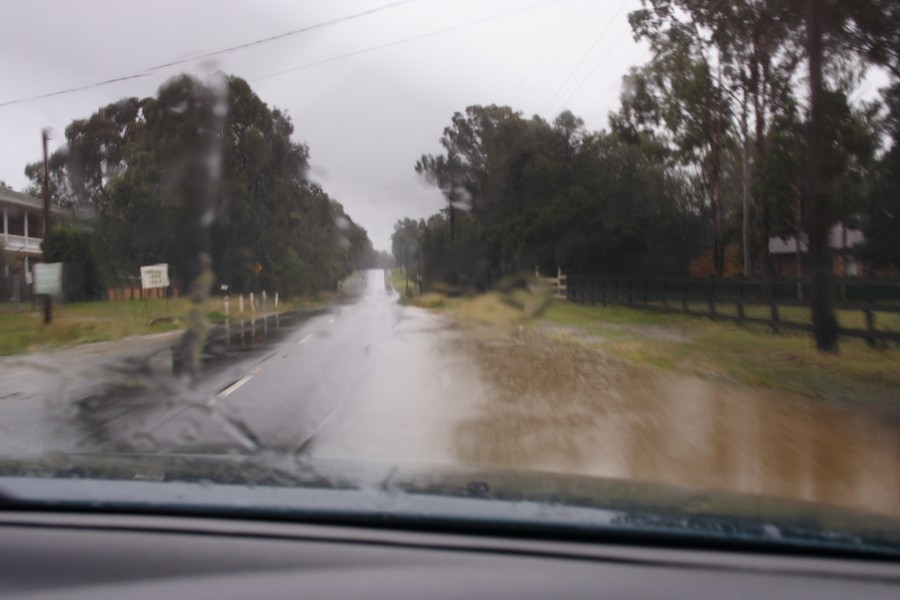
[[[4,22],[0,495],[375,482],[900,530],[894,3]]]

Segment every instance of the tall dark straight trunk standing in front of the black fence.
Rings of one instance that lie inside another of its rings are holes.
[[[823,173],[823,114],[822,81],[822,0],[807,0],[806,44],[809,56],[809,127],[807,202],[809,203],[809,274],[812,278],[810,301],[812,303],[813,336],[820,352],[837,352],[837,320],[831,298],[830,253],[828,230],[831,210],[825,192]]]

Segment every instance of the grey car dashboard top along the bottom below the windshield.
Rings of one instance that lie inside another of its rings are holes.
[[[0,513],[4,598],[897,598],[888,560],[435,528]]]

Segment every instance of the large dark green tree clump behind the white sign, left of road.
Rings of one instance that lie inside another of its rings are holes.
[[[72,121],[49,159],[50,192],[62,206],[92,207],[95,219],[55,228],[54,256],[81,257],[107,285],[168,263],[183,290],[207,266],[234,291],[334,288],[379,256],[307,179],[309,149],[293,133],[288,115],[221,73],[177,76],[156,97]],[[25,173],[39,195],[43,163]]]

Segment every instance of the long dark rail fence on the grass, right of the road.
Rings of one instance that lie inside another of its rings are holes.
[[[774,331],[812,331],[805,279],[651,279],[569,275],[572,302],[690,314]],[[832,290],[839,335],[870,345],[900,343],[900,280],[845,278]],[[880,316],[879,316],[880,315]],[[879,323],[881,326],[879,327]]]

